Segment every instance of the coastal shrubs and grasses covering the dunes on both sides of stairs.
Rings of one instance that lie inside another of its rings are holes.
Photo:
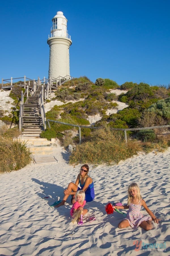
[[[10,97],[15,100],[12,112],[8,116],[4,116],[3,111],[0,112],[0,119],[7,124],[18,124],[21,94],[21,88],[18,87],[14,86],[10,93]],[[115,89],[122,93],[117,96],[112,91]],[[59,86],[52,100],[60,100],[64,104],[48,111],[47,119],[91,127],[81,128],[81,144],[78,127],[50,121],[50,128],[42,131],[42,138],[58,138],[64,147],[73,145],[70,164],[118,163],[140,151],[162,151],[170,146],[169,128],[163,131],[147,128],[170,124],[170,86],[149,86],[133,82],[125,82],[119,86],[110,79],[98,78],[93,83],[87,77],[80,77]],[[117,112],[117,101],[126,103],[127,108]],[[111,110],[117,113],[112,113]],[[95,115],[100,116],[100,120],[90,125],[89,117]],[[127,131],[127,143],[124,132],[114,130],[140,127],[146,129]],[[1,129],[0,171],[18,170],[31,161],[31,153],[25,144],[16,144],[12,140],[16,129],[4,131]]]

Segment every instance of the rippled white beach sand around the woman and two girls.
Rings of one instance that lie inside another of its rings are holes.
[[[70,198],[65,206],[50,207],[62,199],[63,188],[75,181],[80,168],[68,164],[69,153],[61,147],[56,153],[57,164],[31,164],[0,175],[0,255],[169,255],[170,148],[164,153],[140,154],[115,166],[90,165],[95,200],[86,204],[89,212],[82,226],[71,223]],[[131,182],[139,184],[148,207],[162,220],[153,224],[153,230],[120,230],[117,225],[122,215],[105,212],[108,202],[127,202]],[[97,220],[89,222],[94,215]],[[166,251],[150,248],[148,252],[142,245],[135,251],[135,241],[153,246],[165,243]]]

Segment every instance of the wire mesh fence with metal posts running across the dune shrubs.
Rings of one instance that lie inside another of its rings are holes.
[[[82,136],[88,136],[91,130],[93,129],[102,129],[103,127],[93,127],[93,126],[85,126],[85,125],[75,125],[70,123],[64,123],[60,121],[55,121],[51,119],[47,119],[48,127],[51,128],[50,122],[56,123],[56,127],[59,128],[60,131],[64,132],[65,135],[69,135],[71,137],[78,137],[79,143],[82,143]],[[73,128],[71,128],[73,127]],[[126,144],[128,139],[143,139],[144,141],[148,138],[155,139],[159,136],[167,136],[170,135],[170,125],[161,125],[161,126],[152,126],[152,127],[138,127],[138,128],[111,128],[111,130],[117,131],[118,133],[122,133]]]

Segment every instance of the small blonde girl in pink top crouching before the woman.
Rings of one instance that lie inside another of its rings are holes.
[[[82,225],[82,216],[88,212],[87,209],[83,209],[84,205],[86,204],[85,193],[83,190],[78,190],[75,195],[76,202],[73,204],[70,215],[73,217],[72,222],[74,223],[76,220],[79,219],[78,224]]]

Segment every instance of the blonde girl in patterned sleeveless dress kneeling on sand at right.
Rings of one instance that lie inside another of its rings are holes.
[[[142,206],[150,216],[143,216],[143,214],[141,214],[140,210]],[[129,209],[126,218],[118,224],[118,228],[127,228],[129,226],[132,228],[137,228],[138,226],[141,226],[145,230],[150,230],[152,229],[151,220],[154,220],[155,223],[159,222],[153,212],[149,210],[145,201],[142,199],[140,189],[136,183],[132,183],[128,187],[128,204],[122,206],[113,206],[113,209],[114,208]]]

